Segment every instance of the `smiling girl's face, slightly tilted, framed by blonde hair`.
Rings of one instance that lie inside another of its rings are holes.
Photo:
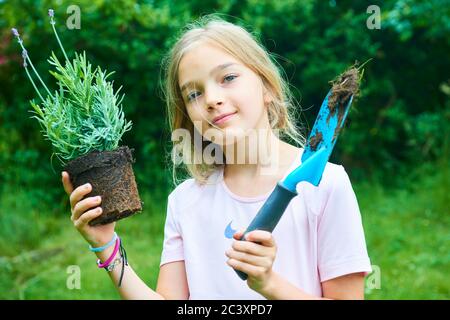
[[[221,48],[203,43],[190,49],[178,79],[189,118],[204,138],[225,145],[270,129],[260,76]]]

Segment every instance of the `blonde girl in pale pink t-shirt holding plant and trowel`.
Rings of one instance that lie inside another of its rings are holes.
[[[357,200],[342,166],[328,163],[318,187],[300,183],[273,233],[253,231],[247,241],[238,240],[303,152],[279,138],[278,133],[304,144],[292,121],[288,85],[269,54],[243,28],[208,16],[182,34],[165,70],[173,154],[181,156],[191,178],[168,197],[156,291],[113,248],[115,223],[88,225],[101,214],[100,198],[83,199],[91,186],[73,190],[63,172],[71,219],[92,247],[100,247],[98,263],[118,257],[109,275],[121,282],[120,295],[362,299],[371,265]],[[234,269],[248,279],[242,281]]]

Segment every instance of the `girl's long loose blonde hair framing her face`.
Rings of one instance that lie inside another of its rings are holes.
[[[185,29],[182,30],[181,36],[163,61],[164,80],[162,89],[166,100],[170,132],[174,132],[176,129],[186,129],[191,137],[194,136],[194,124],[187,115],[178,83],[178,68],[184,54],[194,44],[206,40],[240,60],[261,77],[264,87],[269,91],[272,98],[268,106],[270,127],[279,130],[280,138],[290,138],[298,146],[304,145],[305,138],[294,123],[297,108],[289,84],[283,79],[279,69],[271,60],[271,55],[252,34],[238,25],[221,19],[217,14],[203,16],[188,24]],[[204,148],[211,143],[203,141],[201,150],[198,150],[193,145],[193,141],[193,139],[190,139],[190,142],[182,139],[181,142],[174,142],[173,149],[168,154],[171,157],[172,180],[175,185],[184,180],[185,177],[177,178],[179,164],[173,161],[172,152],[182,155],[183,159],[186,159],[186,157],[194,159],[201,157]],[[190,145],[187,146],[186,144],[189,143]],[[191,154],[183,154],[186,150]],[[200,184],[204,184],[222,164],[200,162],[183,162],[181,166],[190,177],[193,177]]]

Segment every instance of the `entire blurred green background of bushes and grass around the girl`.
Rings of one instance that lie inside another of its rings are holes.
[[[81,10],[80,29],[65,25],[70,5]],[[380,29],[367,26],[370,5],[380,8]],[[366,298],[450,298],[449,1],[0,0],[1,299],[119,298],[71,224],[61,167],[51,163],[51,145],[30,119],[34,91],[10,29],[18,28],[55,88],[46,59],[60,52],[49,8],[69,56],[86,50],[93,65],[114,70],[115,86],[124,87],[133,129],[123,144],[135,149],[145,209],[117,229],[131,265],[152,288],[173,189],[161,59],[186,23],[218,12],[256,33],[276,55],[304,109],[297,121],[306,133],[328,81],[356,60],[372,59],[331,159],[353,182],[379,271],[368,278]],[[80,268],[80,289],[68,285],[72,265]]]

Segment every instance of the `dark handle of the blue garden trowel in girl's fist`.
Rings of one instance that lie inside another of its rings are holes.
[[[245,240],[245,235],[254,230],[264,230],[272,232],[275,229],[278,221],[286,210],[289,202],[297,195],[280,183],[277,184],[275,190],[272,191],[269,198],[259,210],[258,214],[253,218],[253,221],[245,230],[241,240]],[[247,280],[247,274],[239,270],[235,270],[242,280]]]

